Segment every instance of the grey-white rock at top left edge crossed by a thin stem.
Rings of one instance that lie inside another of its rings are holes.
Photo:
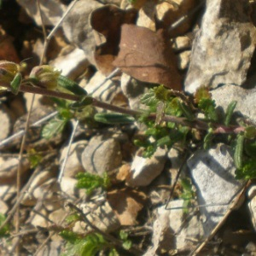
[[[32,17],[38,26],[42,26],[42,20],[39,13],[37,1],[17,0],[17,2],[26,10],[26,13]],[[67,7],[56,0],[40,0],[41,10],[44,16],[45,26],[55,26],[61,20]]]

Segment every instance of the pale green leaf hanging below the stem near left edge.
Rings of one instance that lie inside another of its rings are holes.
[[[50,139],[54,137],[55,134],[61,133],[65,125],[67,124],[67,119],[51,119],[49,123],[44,125],[42,131],[42,137],[45,139]]]

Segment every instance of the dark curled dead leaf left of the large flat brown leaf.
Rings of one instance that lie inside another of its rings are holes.
[[[96,66],[105,75],[114,69],[112,62],[119,52],[121,25],[134,23],[136,18],[137,10],[123,10],[114,5],[105,5],[91,13],[90,25],[99,33],[95,51]]]

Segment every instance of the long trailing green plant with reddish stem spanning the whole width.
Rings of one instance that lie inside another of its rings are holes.
[[[194,97],[189,97],[181,92],[167,90],[162,85],[156,86],[142,97],[143,104],[148,106],[148,111],[145,112],[99,102],[88,96],[79,84],[61,76],[59,71],[48,65],[34,67],[29,78],[22,79],[19,65],[1,61],[0,82],[15,94],[17,91],[27,91],[58,98],[55,101],[59,106],[59,114],[44,127],[44,137],[51,137],[55,132],[61,131],[68,120],[78,118],[81,110],[83,112],[86,109],[86,118],[91,120],[95,117],[97,122],[114,125],[137,119],[146,125],[144,138],[135,141],[137,146],[144,148],[145,157],[154,154],[158,147],[210,148],[214,143],[224,142],[234,148],[237,177],[255,176],[250,171],[253,170],[255,158],[255,126],[248,122],[238,124],[233,119],[236,102],[230,102],[225,113],[218,112],[205,87],[197,90]],[[97,114],[95,107],[114,113]],[[231,141],[234,139],[236,144],[232,145]]]

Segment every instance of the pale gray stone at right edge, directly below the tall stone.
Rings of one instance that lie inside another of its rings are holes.
[[[212,90],[212,99],[217,106],[228,108],[232,101],[237,101],[235,112],[239,111],[256,123],[256,88],[244,89],[240,86],[226,84],[216,90]]]

